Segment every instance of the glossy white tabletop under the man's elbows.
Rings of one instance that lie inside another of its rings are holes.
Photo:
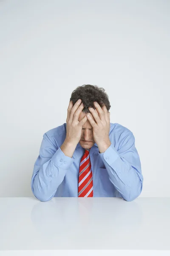
[[[0,198],[0,255],[62,249],[170,255],[170,198]]]

